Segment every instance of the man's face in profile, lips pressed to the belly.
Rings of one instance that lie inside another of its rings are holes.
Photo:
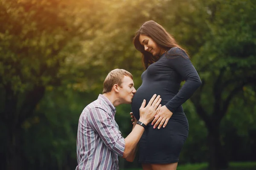
[[[122,103],[130,104],[133,99],[134,94],[136,93],[136,89],[134,88],[133,80],[125,76],[121,87],[119,88],[119,98]]]

